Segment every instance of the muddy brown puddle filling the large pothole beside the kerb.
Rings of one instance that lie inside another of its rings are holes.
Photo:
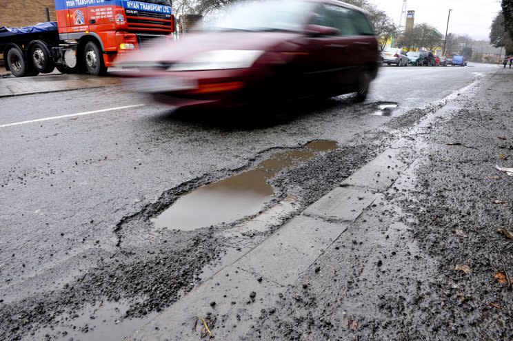
[[[302,149],[279,152],[255,169],[230,176],[185,194],[151,221],[157,228],[191,231],[231,223],[257,214],[274,194],[267,180],[281,169],[308,161],[319,152],[336,149],[335,141],[313,141]]]

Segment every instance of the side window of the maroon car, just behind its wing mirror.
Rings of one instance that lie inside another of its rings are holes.
[[[356,28],[350,20],[350,10],[335,5],[323,4],[314,16],[314,25],[336,28],[341,36],[356,35]]]

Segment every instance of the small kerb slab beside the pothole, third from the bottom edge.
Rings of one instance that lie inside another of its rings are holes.
[[[303,214],[328,220],[353,222],[376,200],[377,196],[374,189],[367,187],[336,187],[308,207]]]

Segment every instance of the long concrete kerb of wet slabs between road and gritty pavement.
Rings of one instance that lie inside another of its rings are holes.
[[[245,335],[261,310],[272,307],[280,292],[296,285],[301,274],[310,271],[325,249],[345,231],[356,228],[359,217],[372,209],[374,201],[383,198],[396,183],[408,187],[410,173],[421,157],[422,143],[410,136],[422,134],[432,118],[459,109],[448,105],[430,114],[339,187],[310,205],[301,216],[290,220],[125,340],[197,340],[203,327],[198,322],[201,316],[217,325],[214,336],[219,340],[236,340],[237,336]],[[224,329],[225,325],[240,327]]]

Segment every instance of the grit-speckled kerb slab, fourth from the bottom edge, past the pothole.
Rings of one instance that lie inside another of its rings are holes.
[[[412,162],[412,158],[405,155],[401,149],[389,148],[345,179],[342,185],[385,191]]]

